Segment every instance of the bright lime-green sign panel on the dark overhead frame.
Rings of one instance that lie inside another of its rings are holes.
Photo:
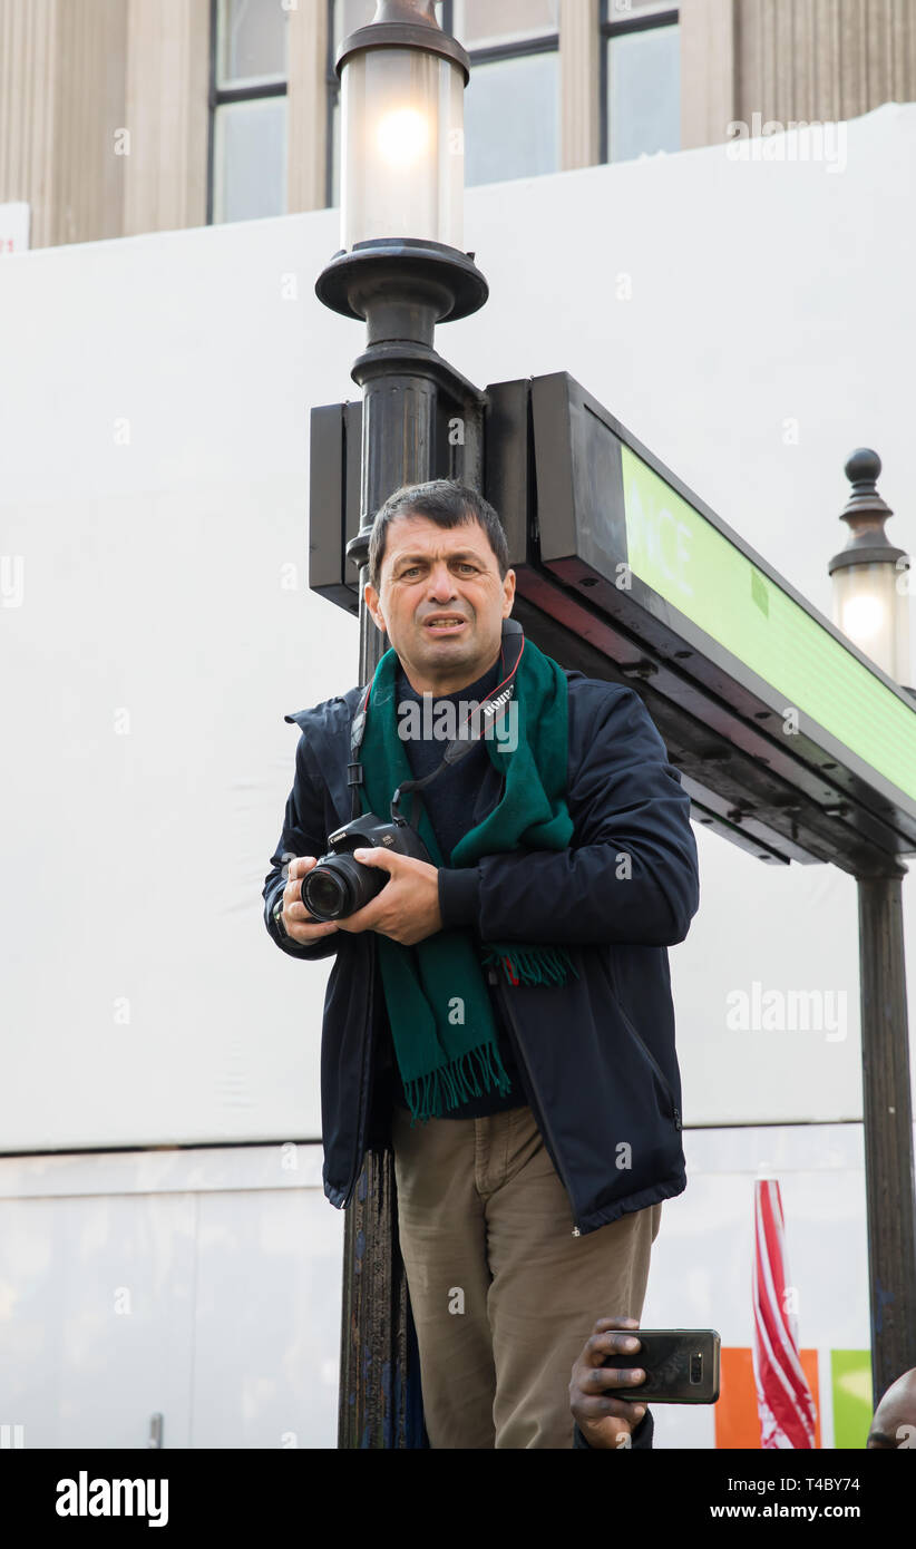
[[[632,573],[916,799],[913,709],[629,446],[622,457]]]

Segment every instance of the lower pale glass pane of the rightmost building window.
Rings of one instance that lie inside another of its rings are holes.
[[[608,160],[680,149],[680,29],[608,39]]]

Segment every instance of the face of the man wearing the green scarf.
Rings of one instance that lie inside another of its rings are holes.
[[[454,694],[499,657],[515,572],[499,578],[490,539],[476,519],[437,527],[405,514],[386,533],[378,592],[366,604],[418,694]]]

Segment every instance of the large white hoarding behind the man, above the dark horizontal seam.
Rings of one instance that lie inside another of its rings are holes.
[[[885,107],[840,173],[715,147],[474,189],[491,299],[439,347],[480,384],[570,370],[829,612],[854,446],[916,534],[914,152],[916,108]],[[313,296],[336,246],[321,211],[3,263],[6,1151],[319,1134],[324,970],[276,951],[260,888],[282,716],[356,657],[307,590],[308,409],[355,397],[363,341]],[[856,1117],[854,883],[697,843],[687,1121]],[[845,990],[848,1038],[728,1032],[753,979]]]

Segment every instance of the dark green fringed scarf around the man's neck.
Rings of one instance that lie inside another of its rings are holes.
[[[397,730],[397,654],[386,651],[372,678],[361,751],[369,809],[386,821],[397,787],[414,778]],[[459,840],[449,861],[442,857],[425,809],[420,813],[418,833],[436,866],[474,866],[484,855],[569,846],[573,826],[564,799],[567,680],[530,640],[516,674],[515,699],[516,748],[502,751],[498,737],[484,739],[493,765],[504,776],[502,796],[493,812]],[[414,799],[409,793],[409,801]],[[405,804],[401,812],[412,816]],[[401,946],[380,932],[378,953],[412,1123],[439,1117],[470,1097],[493,1089],[504,1095],[511,1089],[499,1058],[487,993],[490,963],[502,968],[513,984],[561,984],[567,973],[577,973],[564,946],[480,945],[470,929],[439,931],[415,946]]]

